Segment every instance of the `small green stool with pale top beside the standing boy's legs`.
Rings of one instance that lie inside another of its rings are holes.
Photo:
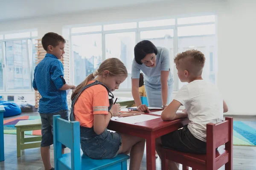
[[[24,132],[30,130],[41,130],[41,119],[20,120],[15,125],[17,129],[17,157],[21,156],[21,150],[41,147],[42,136],[25,138]],[[40,141],[40,142],[36,142]],[[33,143],[26,143],[33,142]]]

